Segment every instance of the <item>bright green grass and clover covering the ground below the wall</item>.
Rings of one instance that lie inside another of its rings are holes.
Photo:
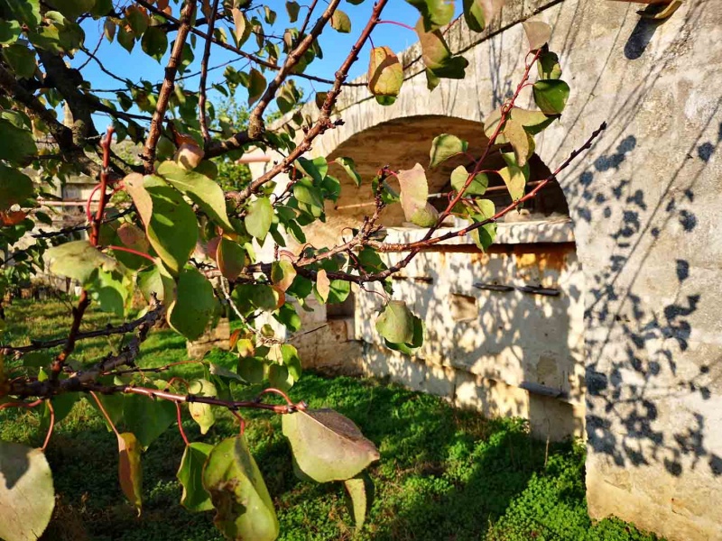
[[[69,306],[38,307],[17,303],[7,310],[3,342],[23,343],[61,336]],[[107,323],[91,313],[88,324]],[[111,346],[115,343],[111,342]],[[108,341],[79,344],[74,357],[90,362],[107,352]],[[117,345],[117,344],[115,344]],[[227,353],[211,353],[229,362]],[[139,363],[157,366],[185,358],[182,338],[156,331],[143,344]],[[192,364],[176,373],[192,377]],[[254,390],[248,390],[252,393]],[[381,452],[370,469],[375,501],[358,539],[488,541],[653,540],[616,519],[592,524],[584,487],[584,448],[551,445],[528,436],[519,419],[487,419],[450,408],[443,400],[379,381],[325,379],[306,373],[292,399],[312,408],[332,407],[353,419]],[[343,540],[354,535],[340,483],[318,485],[297,480],[280,419],[263,412],[246,415],[248,437],[264,473],[281,522],[282,539]],[[218,442],[234,436],[237,425],[221,415],[208,435],[200,436],[188,418],[191,439]],[[0,413],[0,439],[40,445],[44,434],[37,414]],[[143,514],[136,517],[118,486],[116,439],[86,400],[79,401],[57,427],[47,450],[58,500],[48,540],[193,540],[221,539],[212,513],[180,507],[175,472],[183,443],[171,427],[143,455]],[[545,458],[546,457],[546,458]]]

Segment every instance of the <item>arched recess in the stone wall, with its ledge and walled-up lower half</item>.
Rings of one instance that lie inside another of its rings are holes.
[[[371,179],[386,165],[398,170],[428,164],[431,142],[439,133],[469,142],[467,155],[427,171],[430,192],[446,193],[451,171],[468,166],[486,148],[488,140],[477,122],[438,115],[396,119],[356,133],[327,159],[331,163],[349,156],[362,178]],[[492,151],[486,163],[490,169],[503,167],[500,151]],[[530,168],[531,190],[551,172],[536,155]],[[314,225],[307,234],[316,246],[335,245],[345,228],[357,226],[373,209],[368,184],[357,188],[340,168],[332,174],[341,179],[341,196],[335,206],[327,206],[327,223]],[[511,202],[496,175],[490,175],[485,197],[497,209]],[[432,198],[438,206],[446,200]],[[405,224],[398,205],[384,209],[381,219],[391,243],[418,240],[426,232]],[[403,255],[384,257],[393,263]],[[583,283],[569,206],[556,183],[522,213],[507,215],[486,252],[469,238],[440,243],[393,278],[394,298],[403,298],[426,327],[417,355],[410,358],[384,347],[374,326],[383,298],[355,289],[355,298],[344,305],[320,307],[315,325],[326,330],[310,339],[315,345],[304,361],[319,368],[330,364],[334,371],[353,364],[367,374],[445,396],[459,407],[527,417],[537,436],[583,436]],[[381,286],[367,289],[374,288]],[[339,353],[338,340],[355,346]]]

